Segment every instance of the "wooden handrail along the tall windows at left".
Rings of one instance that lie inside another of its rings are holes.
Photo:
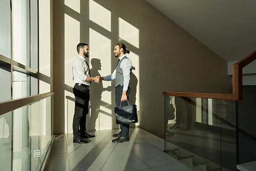
[[[3,114],[6,114],[7,112],[22,108],[25,105],[34,103],[38,100],[52,96],[52,95],[54,95],[54,93],[55,92],[49,92],[49,93],[38,94],[38,95],[34,95],[34,96],[29,96],[29,97],[24,97],[24,98],[1,102],[0,103],[0,109],[1,109],[0,116]]]

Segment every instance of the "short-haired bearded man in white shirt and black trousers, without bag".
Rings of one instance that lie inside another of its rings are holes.
[[[75,86],[73,93],[75,95],[75,113],[73,118],[73,142],[88,143],[89,141],[82,138],[92,138],[86,132],[86,116],[89,112],[89,99],[91,81],[99,83],[99,76],[91,77],[89,64],[86,58],[89,57],[88,44],[80,43],[76,47],[78,57],[75,59],[72,67],[73,81]]]

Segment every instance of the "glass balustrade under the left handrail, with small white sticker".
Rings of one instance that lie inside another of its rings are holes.
[[[53,96],[0,116],[1,169],[43,168],[53,141],[52,116]]]

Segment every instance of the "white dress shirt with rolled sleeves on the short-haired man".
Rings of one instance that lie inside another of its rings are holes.
[[[90,81],[86,81],[89,75],[89,68],[86,64],[86,59],[78,55],[72,66],[74,83],[83,83],[90,86]]]

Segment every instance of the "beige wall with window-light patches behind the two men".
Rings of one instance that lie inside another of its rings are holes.
[[[131,50],[136,125],[157,136],[164,131],[163,91],[231,93],[227,62],[144,0],[53,1],[54,134],[72,133],[72,64],[79,42],[89,44],[92,76],[114,71],[118,42]],[[114,81],[92,83],[88,131],[119,127],[114,90]]]

